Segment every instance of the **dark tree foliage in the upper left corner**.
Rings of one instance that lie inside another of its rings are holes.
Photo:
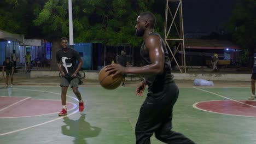
[[[3,0],[0,1],[0,29],[24,34],[25,37],[39,37],[40,28],[33,25],[34,11],[40,9],[45,0]]]

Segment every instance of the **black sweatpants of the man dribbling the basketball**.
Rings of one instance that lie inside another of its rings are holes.
[[[172,109],[179,95],[174,82],[166,84],[161,92],[150,92],[141,106],[135,128],[136,144],[150,144],[150,137],[171,144],[194,144],[181,133],[172,131]]]

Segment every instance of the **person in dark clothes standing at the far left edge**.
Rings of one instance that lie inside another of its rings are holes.
[[[13,87],[14,63],[11,62],[8,57],[5,58],[5,61],[3,62],[3,71],[2,71],[3,79],[4,79],[4,69],[5,69],[5,74],[6,74],[4,87],[8,87],[9,75],[10,75],[10,79],[11,79],[10,87]]]

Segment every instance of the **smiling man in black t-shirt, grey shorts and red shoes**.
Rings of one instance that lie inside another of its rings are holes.
[[[69,85],[71,85],[74,94],[79,100],[79,111],[84,110],[84,101],[78,91],[79,79],[77,77],[77,73],[84,62],[77,51],[68,47],[67,38],[61,38],[61,47],[62,49],[56,53],[57,66],[62,74],[60,83],[62,111],[59,113],[59,116],[65,116],[67,115],[66,99]],[[77,61],[79,61],[78,65]]]

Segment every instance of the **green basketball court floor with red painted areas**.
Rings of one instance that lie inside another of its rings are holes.
[[[179,90],[173,112],[173,130],[201,144],[256,143],[256,101],[247,101],[251,95],[249,87]],[[119,87],[112,91],[81,87],[79,91],[85,101],[85,110],[78,111],[78,102],[69,88],[67,101],[73,110],[68,111],[67,117],[59,117],[56,112],[62,109],[60,87],[0,88],[0,143],[135,143],[134,129],[145,96],[137,97],[134,87]],[[28,105],[26,102],[30,99],[46,101],[33,101]],[[220,101],[215,103],[214,100]],[[208,101],[201,104],[205,110],[197,107],[200,104],[196,105],[201,101]],[[33,111],[31,107],[37,109]],[[31,116],[31,112],[36,114]],[[42,112],[46,114],[41,115]],[[153,144],[162,143],[154,136],[151,140]]]

